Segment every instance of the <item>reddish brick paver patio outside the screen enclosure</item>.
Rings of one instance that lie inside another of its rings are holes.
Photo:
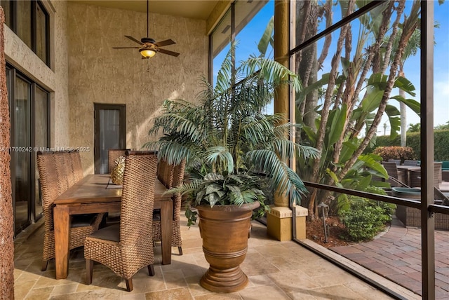
[[[337,254],[422,294],[421,229],[391,221],[389,230],[368,243],[330,248]],[[449,299],[449,231],[435,231],[436,299]]]

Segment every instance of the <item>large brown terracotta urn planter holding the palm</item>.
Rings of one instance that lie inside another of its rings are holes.
[[[248,251],[252,210],[260,203],[246,205],[199,205],[199,229],[209,269],[201,287],[212,292],[230,293],[243,289],[248,277],[240,264]]]

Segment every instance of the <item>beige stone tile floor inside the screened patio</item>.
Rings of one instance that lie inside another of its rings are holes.
[[[39,222],[15,239],[16,300],[391,299],[301,245],[267,237],[266,227],[257,221],[253,221],[248,254],[241,265],[250,283],[239,292],[215,294],[199,285],[208,264],[198,227],[187,228],[185,219],[182,220],[184,255],[176,255],[177,248],[173,248],[172,264],[163,266],[156,244],[156,275],[149,277],[147,268],[143,268],[133,277],[133,292],[126,292],[124,280],[100,264],[94,265],[93,284],[85,285],[82,249],[71,252],[68,278],[55,280],[54,261],[47,271],[40,271],[43,226]],[[420,299],[401,286],[390,284],[389,288],[403,295],[403,299]]]

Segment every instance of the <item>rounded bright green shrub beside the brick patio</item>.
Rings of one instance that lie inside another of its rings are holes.
[[[341,216],[348,236],[355,242],[372,240],[384,228],[391,217],[384,214],[379,205],[353,205],[351,210],[342,212]]]

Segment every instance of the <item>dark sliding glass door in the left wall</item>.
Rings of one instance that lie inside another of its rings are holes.
[[[35,147],[49,146],[49,93],[6,67],[11,117],[11,187],[14,232],[42,217]]]

